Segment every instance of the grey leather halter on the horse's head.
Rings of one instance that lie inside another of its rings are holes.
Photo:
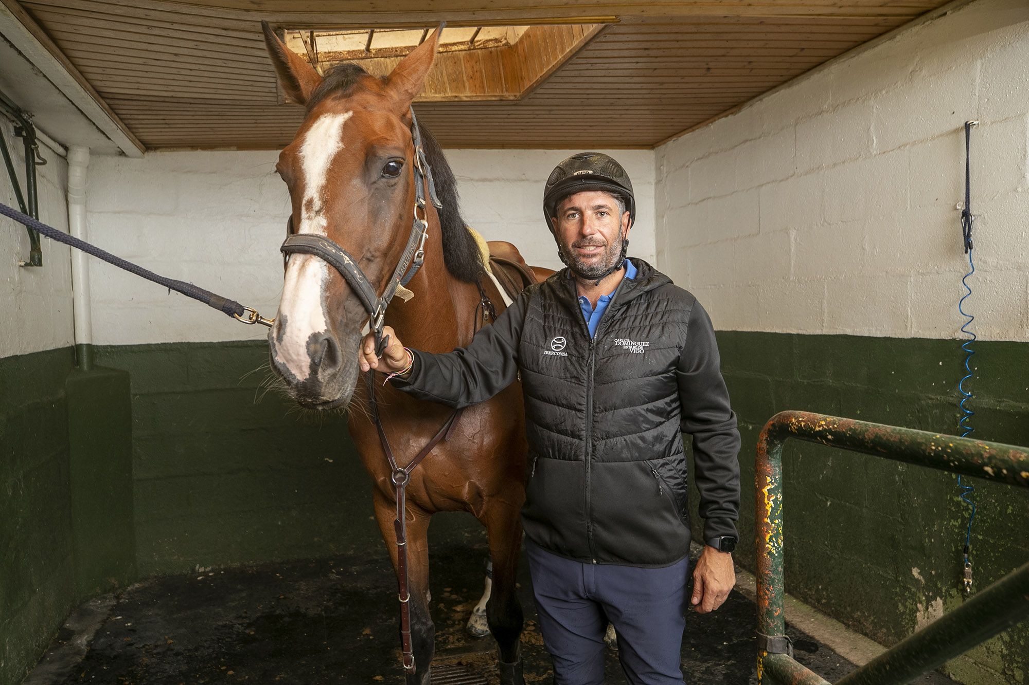
[[[405,286],[415,278],[415,274],[422,267],[425,261],[425,239],[429,233],[429,220],[425,213],[425,186],[429,186],[429,200],[437,210],[442,209],[442,203],[436,196],[436,186],[432,180],[432,168],[425,157],[425,150],[422,147],[422,134],[418,129],[418,119],[415,118],[415,110],[411,110],[411,138],[415,145],[415,211],[414,220],[411,226],[411,237],[407,238],[407,245],[400,255],[400,261],[393,269],[386,289],[381,296],[376,295],[376,291],[368,281],[368,278],[357,265],[357,259],[340,247],[336,243],[324,236],[313,233],[291,233],[286,236],[280,250],[283,255],[311,254],[321,257],[328,262],[335,271],[340,272],[350,289],[354,291],[357,298],[361,300],[364,310],[368,313],[368,326],[376,334],[376,354],[382,355],[383,350],[389,342],[387,336],[383,339],[383,326],[385,325],[386,308],[396,294],[398,286]],[[428,183],[426,183],[426,181]],[[419,216],[421,213],[421,216]],[[292,226],[290,217],[290,230]],[[285,259],[285,257],[283,257]]]

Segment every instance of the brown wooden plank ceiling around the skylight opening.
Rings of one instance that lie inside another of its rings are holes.
[[[148,149],[285,146],[260,20],[354,27],[610,24],[517,101],[426,102],[447,147],[652,147],[941,0],[4,0],[17,2]],[[488,9],[487,9],[488,7]]]

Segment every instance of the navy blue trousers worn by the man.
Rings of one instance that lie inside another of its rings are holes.
[[[661,569],[582,564],[526,540],[543,645],[556,685],[603,685],[604,633],[633,685],[682,685],[689,558]]]

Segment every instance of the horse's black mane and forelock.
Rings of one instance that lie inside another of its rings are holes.
[[[346,96],[368,72],[363,67],[351,63],[343,63],[326,72],[322,82],[318,84],[307,108],[310,111],[315,105],[329,95]],[[443,262],[451,276],[459,281],[475,283],[486,271],[478,245],[468,230],[467,224],[461,218],[458,206],[457,180],[454,172],[443,156],[443,151],[436,142],[435,136],[425,124],[419,122],[422,133],[422,147],[425,157],[432,168],[432,180],[435,182],[436,194],[443,208],[439,210],[439,225],[443,241]]]

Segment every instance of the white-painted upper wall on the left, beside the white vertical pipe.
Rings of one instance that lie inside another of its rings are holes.
[[[25,193],[25,155],[22,139],[0,117],[0,129],[14,161]],[[68,166],[64,158],[40,144],[46,165],[37,171],[39,218],[56,228],[68,230],[66,185]],[[7,170],[0,163],[0,202],[17,209]],[[0,217],[0,358],[52,350],[73,344],[71,307],[71,261],[69,248],[41,239],[42,267],[19,266],[29,258],[29,235],[25,227]],[[0,389],[2,392],[2,389]]]

